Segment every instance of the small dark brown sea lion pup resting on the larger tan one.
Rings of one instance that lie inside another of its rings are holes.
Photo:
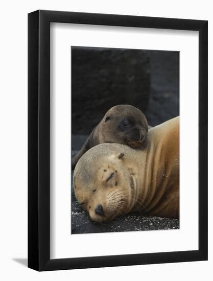
[[[91,132],[79,153],[72,158],[72,170],[81,156],[90,148],[104,143],[118,143],[143,149],[147,142],[146,116],[132,105],[116,105]]]

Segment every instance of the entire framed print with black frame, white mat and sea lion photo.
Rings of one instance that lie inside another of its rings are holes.
[[[207,260],[207,21],[28,15],[28,266]]]

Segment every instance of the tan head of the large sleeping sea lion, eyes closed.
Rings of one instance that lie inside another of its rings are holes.
[[[110,221],[130,212],[135,186],[125,164],[126,153],[132,149],[100,144],[88,150],[76,165],[75,195],[93,221]]]

